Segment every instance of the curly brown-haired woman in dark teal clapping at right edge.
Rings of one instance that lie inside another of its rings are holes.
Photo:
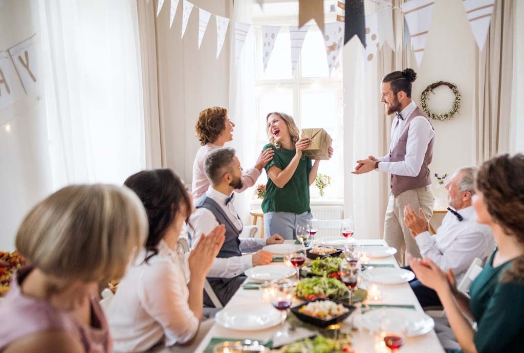
[[[503,155],[482,164],[473,206],[477,222],[493,230],[497,250],[470,287],[456,289],[451,271],[429,259],[410,258],[417,278],[439,295],[461,352],[524,351],[524,155]],[[477,323],[472,328],[466,315]]]

